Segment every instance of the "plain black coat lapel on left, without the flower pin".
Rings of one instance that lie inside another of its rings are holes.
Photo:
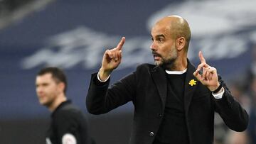
[[[162,102],[162,109],[165,107],[166,103],[166,94],[167,94],[167,81],[166,81],[166,74],[161,67],[154,67],[151,70],[151,76],[156,84],[156,88],[159,92]]]

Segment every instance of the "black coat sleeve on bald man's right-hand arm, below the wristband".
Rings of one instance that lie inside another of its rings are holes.
[[[223,82],[220,79],[221,82]],[[249,116],[245,109],[232,96],[228,87],[223,82],[225,92],[221,99],[214,99],[215,111],[217,111],[224,123],[233,131],[245,131],[248,126]]]

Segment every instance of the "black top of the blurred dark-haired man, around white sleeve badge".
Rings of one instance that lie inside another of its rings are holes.
[[[87,120],[82,111],[70,100],[61,103],[51,114],[51,124],[47,131],[47,138],[51,143],[62,143],[63,135],[71,134],[78,144],[91,144],[87,131]]]

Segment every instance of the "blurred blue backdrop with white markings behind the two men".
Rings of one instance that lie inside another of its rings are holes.
[[[224,79],[238,79],[250,67],[256,43],[255,5],[252,0],[58,0],[48,4],[0,31],[0,120],[49,116],[48,110],[38,104],[35,92],[36,72],[46,66],[65,70],[68,97],[87,113],[90,74],[99,69],[106,48],[117,45],[122,36],[127,38],[122,64],[112,74],[112,82],[139,64],[153,63],[151,26],[168,15],[183,16],[190,23],[188,57],[195,65],[202,50]],[[132,109],[132,104],[126,104],[112,113],[132,113]]]

